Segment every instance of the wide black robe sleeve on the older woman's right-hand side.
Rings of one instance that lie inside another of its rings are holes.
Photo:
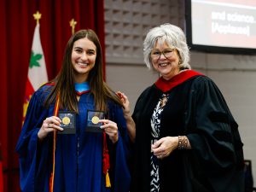
[[[211,79],[201,76],[191,85],[187,109],[188,158],[193,188],[216,192],[243,191],[243,154],[238,125]]]

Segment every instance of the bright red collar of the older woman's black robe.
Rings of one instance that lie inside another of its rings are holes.
[[[198,75],[203,75],[202,73],[195,72],[193,70],[186,70],[182,73],[178,73],[175,75],[172,79],[166,80],[163,79],[163,77],[160,77],[154,85],[162,90],[163,92],[166,92],[168,90],[172,90],[172,88],[176,87],[178,84],[182,84],[186,80],[193,78]]]

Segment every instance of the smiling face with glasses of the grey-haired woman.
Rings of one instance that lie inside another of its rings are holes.
[[[164,79],[172,79],[179,73],[179,60],[177,49],[172,49],[166,42],[159,44],[157,41],[155,43],[154,49],[151,51],[152,66]]]

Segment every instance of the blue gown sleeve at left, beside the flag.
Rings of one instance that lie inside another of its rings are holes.
[[[43,165],[47,166],[44,160],[48,158],[41,153],[38,155],[38,148],[40,148],[38,131],[48,114],[48,110],[43,107],[41,91],[36,91],[29,102],[26,119],[15,148],[20,160],[20,189],[26,192],[37,191],[36,188],[40,185],[37,181],[39,170],[43,170]],[[46,140],[48,139],[46,138],[43,142],[47,143]],[[48,152],[46,151],[45,154]],[[44,183],[44,181],[41,182]]]

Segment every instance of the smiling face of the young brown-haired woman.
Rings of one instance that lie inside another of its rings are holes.
[[[86,81],[90,70],[96,63],[96,45],[88,38],[80,38],[75,41],[71,61],[75,71],[75,82]]]

